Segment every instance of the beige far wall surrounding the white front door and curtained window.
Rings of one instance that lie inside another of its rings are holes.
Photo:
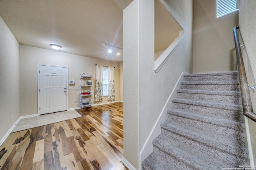
[[[68,90],[68,109],[80,106],[80,73],[92,74],[94,76],[93,84],[95,83],[95,64],[115,67],[115,101],[120,100],[119,63],[20,45],[20,113],[22,116],[38,113],[37,64],[68,67],[68,80],[74,80],[75,82],[74,89]],[[101,103],[109,102],[107,99],[107,97],[104,97],[104,101]],[[99,103],[97,102],[95,104]]]

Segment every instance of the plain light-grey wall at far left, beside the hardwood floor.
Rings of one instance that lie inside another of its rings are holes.
[[[19,43],[0,17],[0,139],[19,117]]]

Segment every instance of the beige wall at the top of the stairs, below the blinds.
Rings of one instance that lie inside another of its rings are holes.
[[[216,0],[193,0],[193,73],[236,70],[238,12],[216,18]]]

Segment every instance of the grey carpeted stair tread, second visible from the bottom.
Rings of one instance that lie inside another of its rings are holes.
[[[207,147],[202,146],[198,150],[195,150],[194,148],[197,146],[193,142],[186,141],[180,143],[166,135],[160,135],[154,139],[153,145],[155,147],[154,152],[168,154],[171,159],[186,162],[184,164],[187,164],[188,167],[193,169],[210,170],[223,165],[234,167],[232,164],[234,162],[230,162],[227,158],[230,155],[222,154],[218,151],[216,151],[218,154],[212,154],[208,152],[209,149]]]

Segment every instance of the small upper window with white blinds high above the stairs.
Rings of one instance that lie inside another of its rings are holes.
[[[228,15],[237,11],[236,0],[216,0],[217,1],[217,18]]]

